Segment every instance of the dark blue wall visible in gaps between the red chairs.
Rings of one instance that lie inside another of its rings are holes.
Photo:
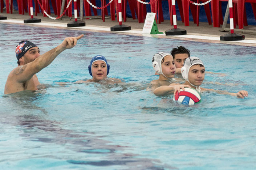
[[[109,3],[109,0],[106,0],[106,2]],[[149,0],[146,0],[146,2],[149,2]],[[227,3],[228,2],[222,2],[223,17],[225,16]],[[126,8],[127,17],[131,17],[131,11],[130,11],[130,7],[129,7],[129,3],[127,3],[126,5],[127,5],[127,8]],[[13,6],[14,6],[15,10],[18,10],[17,0],[13,0]],[[96,0],[96,6],[101,7],[101,0]],[[33,7],[34,7],[34,1],[33,1]],[[146,7],[147,7],[147,12],[151,12],[150,5],[146,5]],[[164,20],[170,20],[169,7],[168,7],[168,1],[167,0],[162,1],[162,7],[163,7]],[[51,8],[51,13],[54,14],[51,1],[50,1],[50,8]],[[72,3],[72,8],[74,9],[74,3]],[[91,7],[91,9],[92,9],[92,7]],[[250,3],[245,3],[245,9],[246,9],[246,14],[247,14],[248,25],[256,25],[256,20],[255,20],[254,15],[253,15],[251,4]],[[80,9],[78,9],[78,10],[80,10]],[[107,7],[107,10],[110,14],[110,7],[109,6]],[[72,12],[74,12],[74,10],[72,10]],[[181,17],[180,17],[179,8],[178,8],[177,3],[176,3],[176,13],[177,13],[176,14],[177,15],[177,20],[181,21]],[[189,20],[193,21],[191,11],[189,11],[189,13],[190,13]],[[92,12],[92,15],[94,15],[93,12]],[[101,15],[101,10],[100,9],[97,9],[97,15]],[[199,21],[200,22],[208,22],[207,17],[206,17],[206,13],[205,13],[203,7],[200,8]],[[228,23],[229,23],[229,20],[228,20]]]

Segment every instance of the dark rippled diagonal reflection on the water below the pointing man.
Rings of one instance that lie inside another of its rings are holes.
[[[110,86],[105,87],[110,89]],[[55,120],[48,119],[48,116],[41,114],[48,114],[46,109],[36,106],[37,100],[44,97],[45,93],[38,90],[37,92],[18,92],[15,94],[9,94],[4,96],[4,100],[8,103],[12,103],[16,108],[22,108],[21,114],[9,114],[9,121],[1,121],[0,124],[8,126],[19,127],[21,130],[19,136],[23,140],[31,142],[39,142],[39,147],[44,143],[49,145],[65,145],[67,150],[72,150],[77,153],[87,154],[99,154],[102,157],[101,161],[90,161],[90,159],[80,158],[76,160],[70,156],[68,163],[79,165],[93,165],[93,166],[125,166],[124,169],[164,169],[160,165],[160,161],[148,158],[139,158],[139,154],[126,153],[124,150],[130,148],[125,145],[113,145],[111,141],[101,139],[101,136],[93,133],[92,131],[86,131],[82,129],[78,131],[65,129],[65,124],[57,122]],[[27,111],[24,111],[27,110]],[[41,111],[34,112],[34,110]],[[3,114],[3,117],[6,115]],[[1,119],[3,120],[3,119]],[[37,146],[37,147],[38,147]],[[37,153],[38,156],[42,153]],[[24,157],[26,159],[26,157]],[[104,160],[105,159],[105,160]],[[123,169],[122,168],[122,169]],[[169,167],[171,168],[171,167]]]

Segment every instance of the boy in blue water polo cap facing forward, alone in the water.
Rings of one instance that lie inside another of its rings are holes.
[[[96,55],[90,61],[88,66],[89,74],[93,77],[90,80],[80,80],[77,83],[85,82],[106,82],[106,83],[120,83],[122,82],[118,78],[108,78],[110,65],[107,64],[107,60],[102,55]]]

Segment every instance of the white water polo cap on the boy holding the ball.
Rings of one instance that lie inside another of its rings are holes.
[[[184,80],[188,81],[188,72],[190,67],[192,67],[193,65],[196,64],[202,64],[204,66],[204,63],[202,60],[200,60],[197,57],[188,57],[185,61],[184,61],[184,66],[181,68],[181,75],[184,78]],[[189,82],[189,81],[188,81]],[[190,82],[189,82],[190,83]],[[191,84],[191,83],[190,83]]]

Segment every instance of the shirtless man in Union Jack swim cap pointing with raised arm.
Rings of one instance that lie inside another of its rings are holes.
[[[40,82],[36,73],[47,67],[62,51],[73,48],[78,37],[67,37],[57,47],[40,55],[39,48],[29,41],[21,41],[16,47],[16,58],[18,67],[13,69],[7,78],[4,88],[4,94],[21,92],[24,90],[37,90]]]

